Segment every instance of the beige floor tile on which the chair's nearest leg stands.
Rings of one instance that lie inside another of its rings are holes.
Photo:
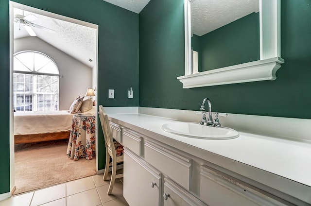
[[[106,203],[108,201],[114,200],[123,196],[123,184],[121,181],[115,182],[115,185],[112,189],[112,193],[110,195],[107,194],[109,185],[104,185],[102,187],[97,188],[98,194],[102,200],[102,203]]]

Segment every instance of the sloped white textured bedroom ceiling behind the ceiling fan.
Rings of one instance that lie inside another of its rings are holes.
[[[86,66],[95,67],[96,29],[14,8],[14,15],[16,14],[23,16],[33,14],[37,19],[33,20],[32,23],[55,31],[55,33],[51,33],[32,27],[38,38],[67,53]],[[29,36],[29,34],[24,26],[14,22],[14,38],[26,36]],[[90,62],[89,59],[93,61]]]

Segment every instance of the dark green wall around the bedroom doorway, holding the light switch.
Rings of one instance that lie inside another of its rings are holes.
[[[15,0],[38,9],[99,25],[98,104],[138,106],[138,14],[103,0]],[[9,192],[9,1],[0,0],[0,79],[2,108],[0,194]],[[127,98],[129,87],[134,98]],[[108,99],[108,89],[115,89],[115,99]],[[136,91],[136,92],[135,92]],[[99,122],[98,122],[99,123]],[[104,169],[104,136],[99,126],[99,169]]]

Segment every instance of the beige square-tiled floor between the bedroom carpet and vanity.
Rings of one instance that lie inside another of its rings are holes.
[[[123,182],[116,179],[112,194],[103,174],[15,195],[0,201],[0,206],[128,206],[123,198]]]

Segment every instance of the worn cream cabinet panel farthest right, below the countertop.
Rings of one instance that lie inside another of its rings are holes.
[[[211,206],[288,205],[277,197],[206,165],[201,166],[200,199]]]

